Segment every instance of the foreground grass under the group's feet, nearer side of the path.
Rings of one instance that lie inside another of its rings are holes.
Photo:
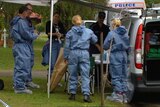
[[[48,98],[45,78],[34,78],[40,84],[40,89],[32,89],[33,94],[15,94],[12,88],[12,77],[1,77],[5,82],[4,90],[0,91],[0,99],[11,107],[100,107],[100,93],[91,96],[92,103],[84,103],[83,96],[78,91],[76,101],[68,100],[69,95],[63,87],[58,87]],[[127,105],[105,101],[106,107],[127,107]],[[1,103],[0,103],[0,107]]]

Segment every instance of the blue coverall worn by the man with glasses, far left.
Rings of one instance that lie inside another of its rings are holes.
[[[38,36],[34,34],[33,29],[29,27],[27,19],[19,16],[13,18],[10,23],[11,38],[14,41],[13,56],[14,66],[14,88],[23,90],[25,83],[29,80],[33,66],[33,45],[32,42]],[[32,30],[32,31],[31,31]]]

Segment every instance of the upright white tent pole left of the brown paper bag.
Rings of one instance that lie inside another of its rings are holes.
[[[52,27],[53,27],[53,11],[54,11],[54,0],[51,0],[51,12],[50,12],[50,45],[49,45],[49,71],[48,71],[48,98],[50,97],[50,84],[51,84],[51,56],[52,56]]]

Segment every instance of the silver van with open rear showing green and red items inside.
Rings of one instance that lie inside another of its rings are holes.
[[[160,91],[160,19],[132,18],[130,36],[130,72],[137,91]],[[156,36],[157,40],[152,41]],[[151,43],[155,42],[155,43]],[[151,50],[152,49],[152,50]],[[152,56],[149,54],[152,53]]]

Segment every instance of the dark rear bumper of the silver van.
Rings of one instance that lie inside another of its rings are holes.
[[[142,79],[140,79],[142,78]],[[147,85],[146,80],[141,74],[131,73],[131,81],[134,84],[135,91],[138,92],[160,92],[160,85]],[[160,82],[159,82],[160,83]]]

